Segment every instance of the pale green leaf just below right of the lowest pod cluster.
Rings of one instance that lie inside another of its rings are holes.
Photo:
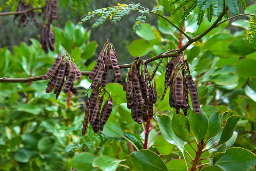
[[[113,118],[109,117],[102,133],[111,138],[124,137],[124,132],[119,123]]]

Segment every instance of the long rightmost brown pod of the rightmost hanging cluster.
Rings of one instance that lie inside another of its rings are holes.
[[[200,109],[200,102],[199,102],[196,84],[193,81],[193,78],[190,74],[187,76],[187,80],[188,80],[188,88],[190,91],[193,110],[196,114],[199,114],[201,112],[201,109]]]

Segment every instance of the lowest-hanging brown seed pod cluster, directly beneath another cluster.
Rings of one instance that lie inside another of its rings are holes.
[[[109,94],[109,97],[102,107],[104,94],[106,92]],[[101,88],[100,84],[98,84],[96,88],[92,91],[90,97],[89,98],[87,97],[87,100],[86,100],[82,135],[86,134],[88,123],[92,125],[92,129],[94,133],[103,131],[104,125],[106,124],[106,122],[108,121],[108,118],[110,117],[112,108],[113,108],[113,101],[112,101],[111,94],[108,91],[106,91],[105,88]]]

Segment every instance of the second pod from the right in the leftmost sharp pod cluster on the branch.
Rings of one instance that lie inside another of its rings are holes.
[[[65,70],[65,75],[66,75],[66,83],[63,87],[63,92],[67,93],[70,88],[73,85],[74,79],[75,79],[75,71],[74,71],[74,67],[73,65],[71,65],[71,70],[68,72],[68,70],[70,70],[70,66],[69,66],[69,62],[66,62],[66,70]]]

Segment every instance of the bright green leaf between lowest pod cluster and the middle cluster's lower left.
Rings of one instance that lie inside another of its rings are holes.
[[[122,117],[123,121],[126,121],[127,123],[130,123],[130,124],[137,124],[137,122],[134,122],[134,120],[131,117],[131,109],[127,108],[127,103],[121,103],[117,107],[117,111],[120,117]]]

